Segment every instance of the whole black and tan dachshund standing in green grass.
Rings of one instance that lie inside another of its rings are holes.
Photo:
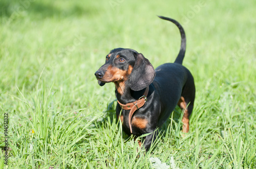
[[[183,132],[189,130],[189,116],[195,100],[195,84],[191,73],[182,66],[186,37],[182,26],[174,19],[159,16],[175,23],[181,34],[181,48],[174,63],[160,65],[154,70],[141,53],[133,49],[116,48],[106,55],[105,64],[96,71],[99,85],[114,82],[116,86],[117,118],[123,130],[144,138],[148,150],[160,127],[178,104],[184,109]]]

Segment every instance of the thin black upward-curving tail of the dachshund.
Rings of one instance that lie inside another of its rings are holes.
[[[181,35],[181,45],[180,45],[180,52],[179,52],[178,57],[176,58],[174,63],[182,64],[182,61],[185,56],[185,51],[186,51],[186,35],[185,35],[185,31],[183,30],[183,27],[181,26],[181,24],[179,22],[177,22],[176,20],[174,20],[172,18],[167,18],[164,16],[158,16],[158,17],[161,19],[164,19],[164,20],[171,21],[174,24],[176,24],[176,26],[178,26],[178,28],[180,30],[180,35]]]

